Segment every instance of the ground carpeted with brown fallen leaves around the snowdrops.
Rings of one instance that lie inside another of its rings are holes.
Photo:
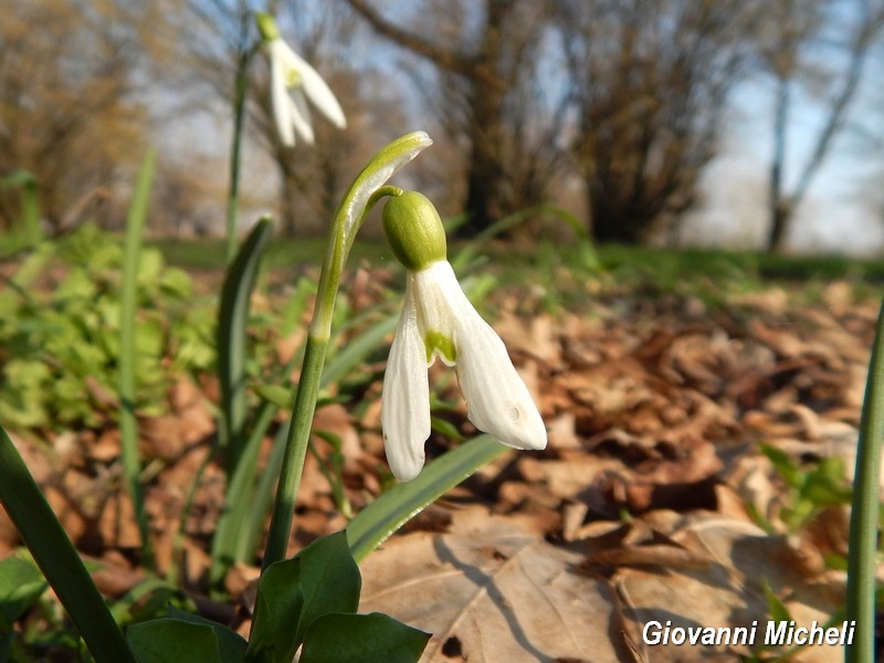
[[[360,565],[360,611],[432,632],[425,660],[772,660],[790,650],[764,645],[783,607],[799,625],[834,615],[841,627],[845,503],[877,286],[851,277],[723,286],[701,274],[662,287],[645,276],[552,270],[530,287],[502,277],[487,294],[484,309],[535,396],[549,445],[483,467]],[[354,283],[354,297],[371,299],[379,292],[371,284],[396,280],[360,271]],[[278,356],[291,354],[292,338],[275,343]],[[389,482],[379,423],[383,354],[373,381],[360,387],[360,407],[332,402],[314,424],[343,441],[354,512]],[[436,362],[431,385],[454,403],[443,418],[474,435],[453,371]],[[169,389],[169,412],[140,420],[156,569],[140,564],[115,427],[42,440],[12,432],[108,598],[145,601],[133,590],[173,572],[203,614],[248,634],[257,567],[236,566],[227,598],[209,598],[206,588],[224,496],[215,463],[200,474],[215,399],[211,379],[182,378]],[[434,432],[428,457],[457,443]],[[322,442],[317,449],[328,452]],[[309,456],[292,551],[344,527],[339,505]],[[0,558],[19,545],[0,512]],[[759,635],[688,655],[683,645],[649,644],[645,627],[654,622]],[[793,660],[833,661],[841,652],[807,646]]]

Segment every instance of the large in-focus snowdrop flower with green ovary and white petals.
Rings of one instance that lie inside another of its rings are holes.
[[[408,481],[423,467],[430,436],[427,369],[435,357],[455,367],[477,429],[515,449],[545,449],[544,421],[506,346],[466,298],[446,260],[445,231],[433,204],[415,191],[393,197],[383,209],[383,229],[408,269],[381,403],[392,473]]]

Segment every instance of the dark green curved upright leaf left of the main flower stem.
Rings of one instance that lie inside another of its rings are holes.
[[[248,411],[245,400],[245,336],[249,304],[261,254],[270,239],[271,220],[255,223],[228,269],[218,312],[218,380],[221,388],[223,436],[221,446],[228,473],[236,466]]]

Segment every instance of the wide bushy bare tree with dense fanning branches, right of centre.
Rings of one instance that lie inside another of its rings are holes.
[[[741,0],[562,2],[573,156],[597,240],[641,242],[694,202],[755,11]]]

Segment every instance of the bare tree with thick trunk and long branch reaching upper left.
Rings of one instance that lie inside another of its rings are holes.
[[[429,0],[417,8],[424,20],[400,25],[367,0],[347,2],[378,34],[434,67],[431,106],[449,138],[466,146],[462,232],[540,202],[562,155],[561,116],[543,107],[538,92],[549,3]]]

